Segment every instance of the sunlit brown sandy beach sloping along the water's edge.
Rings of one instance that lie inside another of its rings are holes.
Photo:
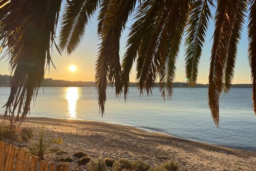
[[[141,159],[152,165],[176,160],[179,170],[256,170],[256,153],[190,141],[129,126],[97,121],[29,118],[24,126],[44,124],[63,139],[63,148],[114,159]]]

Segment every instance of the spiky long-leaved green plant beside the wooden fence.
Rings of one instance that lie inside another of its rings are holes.
[[[26,135],[25,135],[26,137]],[[53,138],[45,131],[45,126],[41,126],[34,134],[34,138],[27,137],[28,151],[32,155],[39,157],[39,161],[44,160],[44,155],[50,152]]]

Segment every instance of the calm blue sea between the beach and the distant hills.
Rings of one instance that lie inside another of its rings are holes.
[[[0,88],[1,106],[9,91]],[[172,101],[164,101],[158,88],[151,96],[140,96],[137,88],[130,88],[127,103],[122,97],[116,99],[114,90],[108,88],[103,117],[98,113],[94,87],[44,88],[30,116],[104,121],[256,152],[256,117],[249,88],[222,94],[220,128],[211,119],[207,88],[174,88]]]

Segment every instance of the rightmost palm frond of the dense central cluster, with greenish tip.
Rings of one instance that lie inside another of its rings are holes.
[[[170,99],[173,93],[175,80],[176,59],[189,14],[190,1],[174,1],[168,9],[169,16],[166,23],[167,30],[167,54],[164,64],[160,65],[159,86],[162,96]]]

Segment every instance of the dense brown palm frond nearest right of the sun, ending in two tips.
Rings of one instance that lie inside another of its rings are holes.
[[[125,27],[127,19],[134,11],[137,0],[115,0],[109,3],[102,3],[108,7],[102,18],[104,25],[100,29],[100,47],[96,61],[95,84],[98,90],[98,103],[101,114],[104,113],[106,101],[106,85],[109,81],[113,86],[115,82],[116,94],[119,94],[121,85],[121,65],[119,61],[119,47],[121,33]],[[101,12],[100,12],[101,13]]]

